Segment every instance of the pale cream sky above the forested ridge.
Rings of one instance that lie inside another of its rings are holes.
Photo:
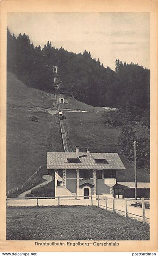
[[[91,57],[115,69],[115,60],[150,68],[149,12],[9,12],[10,32],[29,35],[35,45],[47,41]]]

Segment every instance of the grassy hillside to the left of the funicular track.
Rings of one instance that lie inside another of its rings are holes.
[[[62,151],[55,96],[7,75],[7,190],[25,182],[46,163],[46,153]],[[51,113],[51,114],[50,114]],[[38,118],[32,121],[32,117]]]

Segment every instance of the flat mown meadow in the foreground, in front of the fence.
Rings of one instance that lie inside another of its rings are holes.
[[[96,206],[8,207],[6,239],[149,240],[149,224]]]

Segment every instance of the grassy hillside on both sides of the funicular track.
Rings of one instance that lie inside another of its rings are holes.
[[[104,108],[70,98],[65,99],[63,108],[74,150],[78,145],[81,151],[90,148],[93,152],[119,152],[117,137],[120,128],[102,123]],[[33,116],[37,121],[33,121]],[[137,134],[144,132],[141,126],[136,126],[135,130]],[[55,96],[29,88],[8,73],[7,190],[23,184],[41,164],[46,163],[46,153],[53,151],[62,151]],[[118,181],[134,181],[134,164],[123,155],[120,157],[126,170],[117,172]],[[143,169],[138,169],[137,173],[138,181],[149,181],[149,173]],[[41,182],[41,177],[38,182]]]

